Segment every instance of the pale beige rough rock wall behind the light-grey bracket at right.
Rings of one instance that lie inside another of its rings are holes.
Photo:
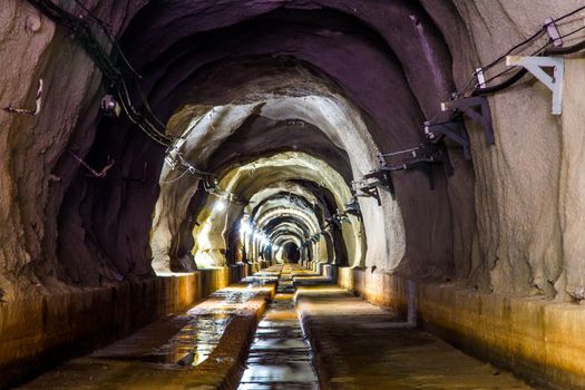
[[[579,1],[422,1],[439,25],[454,56],[454,78],[462,87],[479,64],[487,65],[535,33],[545,19],[558,18]],[[442,19],[446,8],[462,19]],[[582,26],[582,17],[562,33]],[[583,36],[574,38],[578,41]],[[546,42],[546,33],[536,50]],[[573,41],[575,42],[575,41]],[[566,41],[566,45],[572,45]],[[500,65],[488,77],[504,70]],[[579,70],[581,69],[581,70]],[[566,62],[562,116],[553,116],[550,91],[532,77],[489,98],[496,145],[471,127],[476,173],[476,251],[472,263],[489,272],[491,290],[575,299],[583,291],[583,182],[579,177],[583,117],[582,60]]]

